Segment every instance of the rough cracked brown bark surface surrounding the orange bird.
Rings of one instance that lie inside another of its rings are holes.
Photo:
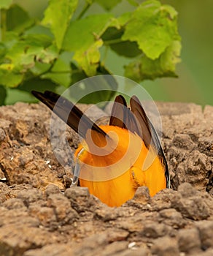
[[[0,255],[213,255],[213,107],[158,109],[171,189],[150,197],[140,187],[132,200],[109,208],[86,188],[66,188],[73,153],[59,150],[63,167],[58,163],[44,105],[1,107]],[[77,148],[71,129],[67,140]]]

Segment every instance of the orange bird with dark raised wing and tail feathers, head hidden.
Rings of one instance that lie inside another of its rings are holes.
[[[51,91],[32,91],[83,138],[75,152],[72,186],[88,187],[108,206],[121,206],[138,187],[153,196],[169,187],[169,170],[157,132],[136,96],[131,109],[115,98],[109,125],[96,125],[68,99]]]

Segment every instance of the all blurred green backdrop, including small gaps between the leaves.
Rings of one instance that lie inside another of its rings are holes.
[[[34,18],[42,18],[47,0],[16,0]],[[171,4],[179,12],[179,34],[182,37],[182,62],[177,64],[179,78],[160,78],[144,81],[142,86],[153,99],[159,101],[195,102],[213,105],[213,1],[212,0],[161,0]],[[112,12],[120,14],[129,10],[128,1],[122,1]],[[94,4],[88,14],[104,12]],[[112,51],[107,64],[115,75],[123,75],[123,65],[128,59],[116,56]],[[9,91],[7,104],[14,102],[18,91]]]

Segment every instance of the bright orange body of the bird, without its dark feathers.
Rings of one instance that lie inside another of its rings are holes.
[[[95,195],[108,206],[122,205],[130,200],[136,189],[141,186],[147,186],[151,196],[166,188],[165,170],[154,153],[150,167],[142,170],[148,149],[139,135],[109,125],[101,126],[101,129],[111,134],[111,138],[114,137],[115,140],[117,138],[117,143],[114,141],[115,144],[110,145],[109,140],[107,148],[106,143],[95,136],[96,146],[106,147],[106,154],[101,156],[90,153],[89,151],[92,150],[90,145],[88,147],[84,145],[88,149],[78,157],[81,162],[81,187],[88,187],[90,194]],[[76,156],[82,150],[82,144],[77,149]]]

